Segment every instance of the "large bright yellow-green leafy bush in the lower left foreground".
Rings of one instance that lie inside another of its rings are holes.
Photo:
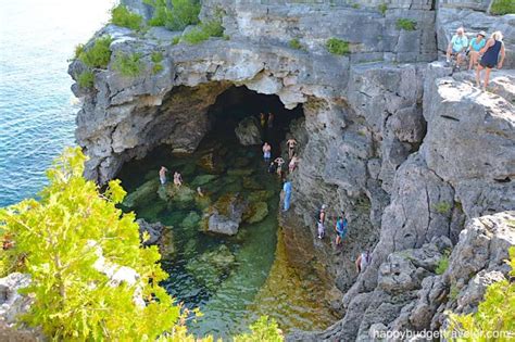
[[[23,293],[34,303],[21,319],[55,341],[153,341],[184,331],[180,307],[159,286],[167,275],[158,249],[142,248],[135,214],[116,207],[126,192],[112,180],[99,193],[83,177],[85,161],[79,148],[65,150],[47,172],[49,185],[38,201],[0,208],[0,240],[11,243],[0,259],[5,265],[22,257],[11,268],[32,278]],[[96,266],[99,255],[139,279],[112,286]]]

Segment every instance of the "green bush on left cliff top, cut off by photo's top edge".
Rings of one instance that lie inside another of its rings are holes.
[[[145,0],[154,8],[150,26],[164,26],[169,30],[183,30],[188,25],[199,23],[200,1],[198,0]],[[172,4],[172,5],[171,5]]]

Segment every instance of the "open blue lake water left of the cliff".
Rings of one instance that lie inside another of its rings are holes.
[[[78,100],[67,60],[113,1],[0,0],[0,206],[35,195],[74,143]]]

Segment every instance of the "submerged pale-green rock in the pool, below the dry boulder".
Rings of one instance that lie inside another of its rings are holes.
[[[186,264],[188,273],[209,290],[215,290],[236,265],[236,258],[223,244],[214,251],[191,258]]]

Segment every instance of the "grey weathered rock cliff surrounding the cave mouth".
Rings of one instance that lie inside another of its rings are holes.
[[[501,28],[510,39],[513,15],[490,17],[489,1],[441,0],[436,11],[430,1],[392,1],[385,14],[375,1],[360,1],[359,9],[321,2],[203,1],[202,17],[224,10],[230,39],[197,46],[172,45],[179,34],[164,28],[102,28],[97,36],[114,38],[112,61],[138,52],[145,67],[126,78],[111,62],[96,71],[95,89],[73,87],[84,99],[76,137],[90,156],[87,176],[103,183],[124,162],[161,143],[193,151],[210,129],[210,105],[233,85],[277,94],[286,107],[302,104],[305,117],[291,127],[301,145],[293,206],[280,219],[291,262],[310,265],[346,293],[334,303],[344,317],[322,334],[290,338],[365,341],[378,330],[437,329],[443,308],[477,305],[485,287],[470,296],[472,281],[506,274],[502,258],[515,228],[503,219],[513,213],[493,214],[515,210],[515,73],[492,74],[495,93],[479,92],[470,74],[427,62],[438,58],[456,23],[470,30]],[[138,1],[126,3],[151,13]],[[397,28],[400,18],[415,21],[416,29]],[[351,54],[328,53],[331,37],[350,41]],[[293,38],[305,50],[290,48]],[[510,40],[506,49],[505,65],[514,65]],[[155,51],[164,59],[154,74]],[[70,74],[83,68],[75,61]],[[315,239],[313,213],[323,203],[330,217],[341,211],[348,216],[341,250]],[[493,216],[478,218],[485,215]],[[470,231],[502,243],[491,242],[494,251],[481,244],[481,266],[462,277],[460,263],[476,243]],[[451,266],[436,276],[453,245]],[[356,275],[354,259],[365,249],[373,263]],[[474,276],[479,273],[480,279]],[[449,300],[453,279],[461,292]]]

